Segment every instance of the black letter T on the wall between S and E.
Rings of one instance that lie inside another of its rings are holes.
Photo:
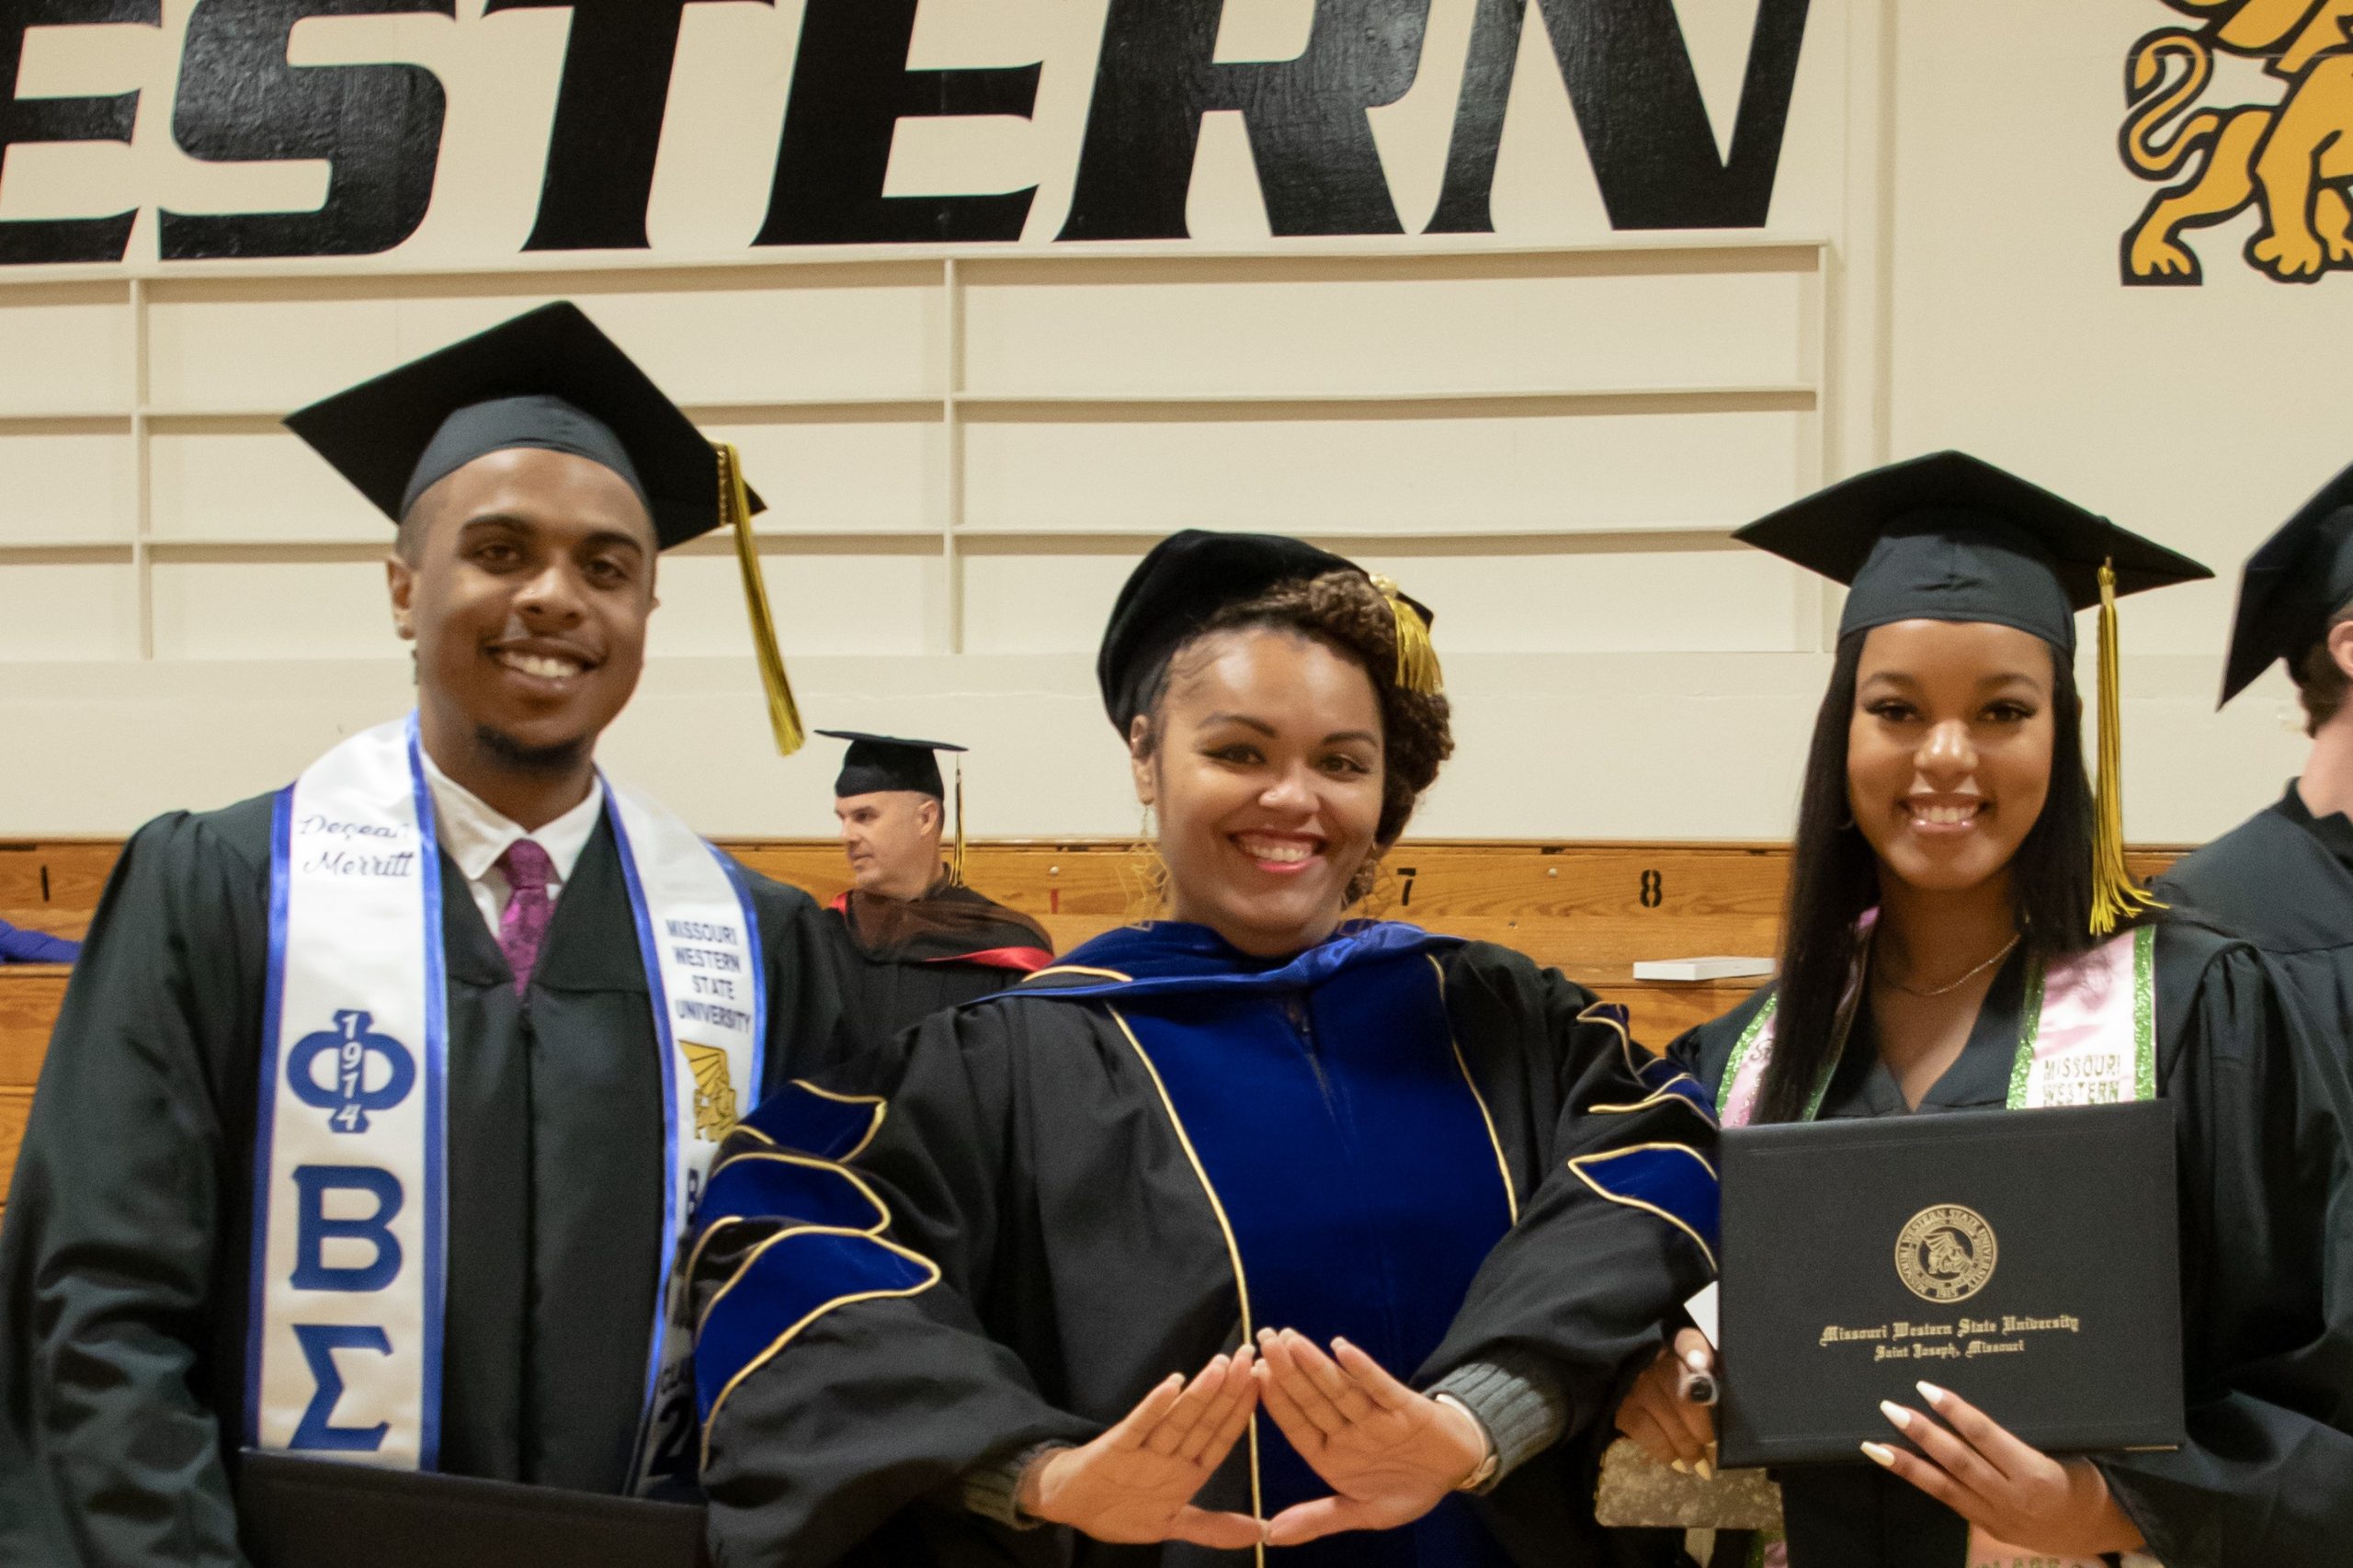
[[[569,5],[548,177],[522,250],[645,250],[678,19],[694,0],[487,0],[482,14]],[[774,0],[765,0],[774,5]]]

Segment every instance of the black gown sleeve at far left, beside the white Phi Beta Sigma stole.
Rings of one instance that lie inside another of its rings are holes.
[[[0,1474],[5,1561],[242,1561],[221,1462],[238,1415],[202,1396],[224,1229],[242,1231],[221,1224],[207,1062],[249,1010],[228,911],[266,873],[198,819],[148,824],[66,989],[0,1238],[0,1427],[24,1460]]]

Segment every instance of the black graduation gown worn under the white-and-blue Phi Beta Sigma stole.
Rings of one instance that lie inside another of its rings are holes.
[[[129,841],[89,928],[0,1236],[0,1561],[240,1561],[221,1460],[242,1434],[268,881],[268,796],[176,812]],[[748,881],[774,1085],[854,1045],[824,911]],[[527,998],[447,855],[442,937],[442,1469],[621,1490],[666,1172],[609,824]]]

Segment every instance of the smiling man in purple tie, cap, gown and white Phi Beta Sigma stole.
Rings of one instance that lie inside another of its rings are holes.
[[[400,523],[419,702],[122,852],[0,1238],[7,1563],[238,1563],[240,1448],[654,1490],[708,1156],[854,1043],[824,911],[593,763],[732,452],[569,304],[287,424]]]

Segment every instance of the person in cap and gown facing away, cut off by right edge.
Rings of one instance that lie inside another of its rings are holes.
[[[2247,558],[2221,699],[2287,664],[2313,737],[2268,808],[2174,864],[2160,890],[2254,942],[2313,1041],[2353,1064],[2353,469]]]

